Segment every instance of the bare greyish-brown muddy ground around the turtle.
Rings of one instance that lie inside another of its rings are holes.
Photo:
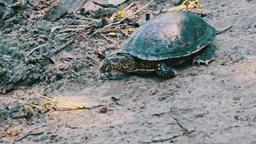
[[[137,2],[134,10],[149,0]],[[233,27],[210,44],[216,58],[209,66],[188,61],[175,67],[175,78],[165,79],[118,72],[99,76],[101,61],[131,34],[103,33],[113,42],[92,36],[118,8],[74,14],[58,0],[0,1],[0,143],[43,131],[18,143],[256,144],[256,1],[200,2],[202,8],[193,12],[217,30]],[[138,27],[145,12],[179,3],[155,0],[122,29]],[[36,93],[90,110],[62,104],[46,110],[46,100]]]

